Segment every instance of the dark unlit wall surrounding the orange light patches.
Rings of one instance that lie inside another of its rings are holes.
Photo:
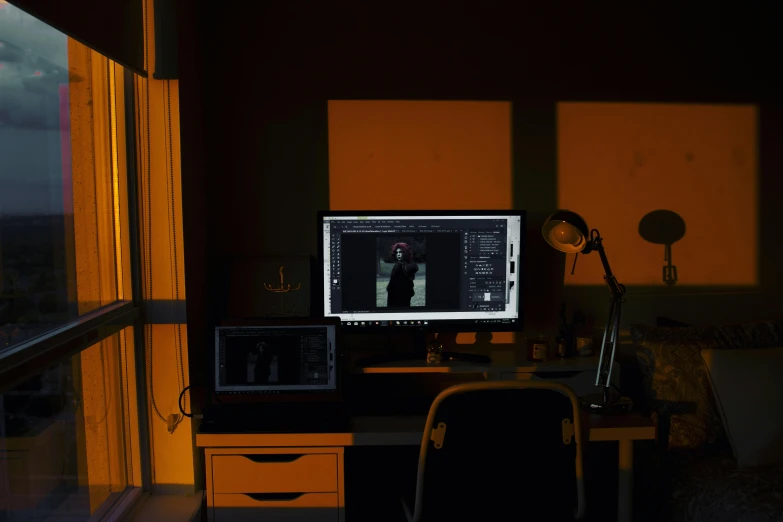
[[[180,4],[187,285],[199,292],[188,303],[194,375],[206,373],[221,257],[316,252],[315,213],[329,203],[326,100],[513,101],[513,205],[530,212],[527,320],[541,327],[554,324],[563,291],[564,259],[538,233],[558,203],[558,100],[761,100],[761,144],[774,143],[779,109],[767,102],[780,78],[765,64],[779,42],[765,13],[685,6],[675,18],[585,4],[555,16],[555,6],[517,4],[398,12],[286,2],[252,16]],[[779,165],[761,150],[762,208],[773,208],[763,198]],[[600,292],[579,287],[569,300],[600,308]],[[711,297],[677,302],[705,318],[770,304],[751,295],[708,312]],[[636,318],[670,305],[651,299]]]

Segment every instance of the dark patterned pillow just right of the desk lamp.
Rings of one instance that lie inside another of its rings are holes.
[[[631,325],[645,394],[669,449],[701,450],[723,442],[701,350],[714,348],[712,328]]]

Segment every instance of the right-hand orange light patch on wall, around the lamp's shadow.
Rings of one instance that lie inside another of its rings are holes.
[[[601,232],[627,285],[665,286],[665,246],[639,228],[655,210],[685,222],[671,246],[675,286],[756,285],[757,162],[753,106],[558,105],[559,206]],[[602,284],[597,256],[580,259],[571,275],[573,261],[569,255],[566,284]]]

